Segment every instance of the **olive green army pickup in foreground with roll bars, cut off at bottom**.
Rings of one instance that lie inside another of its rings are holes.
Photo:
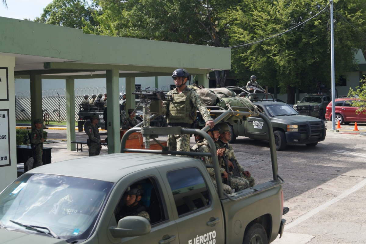
[[[223,116],[229,113],[233,114],[225,111]],[[258,116],[270,124],[264,115]],[[129,135],[141,131],[151,138],[200,134],[215,148],[207,129],[135,127],[124,134],[121,153],[26,172],[0,193],[0,243],[266,244],[281,237],[287,210],[273,136],[272,179],[229,195],[223,191],[216,150],[191,153],[124,146]],[[210,155],[213,165],[168,154]],[[212,166],[217,189],[207,170]],[[123,209],[124,193],[132,184],[143,189],[149,221],[140,216],[118,218],[117,210]]]

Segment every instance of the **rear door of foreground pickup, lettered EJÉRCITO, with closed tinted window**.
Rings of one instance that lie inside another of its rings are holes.
[[[179,243],[225,243],[221,203],[208,172],[194,164],[166,170],[167,191],[179,231]],[[202,174],[203,173],[203,174]]]

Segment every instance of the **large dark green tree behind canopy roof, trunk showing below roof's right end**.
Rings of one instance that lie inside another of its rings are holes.
[[[227,47],[222,14],[236,0],[99,0],[95,34]],[[173,55],[173,54],[172,54]],[[224,86],[228,71],[215,71]]]

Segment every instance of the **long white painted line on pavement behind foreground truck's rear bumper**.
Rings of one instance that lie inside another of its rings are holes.
[[[294,221],[292,221],[291,223],[285,225],[285,229],[284,230],[288,230],[298,224],[300,224],[301,222],[305,221],[306,219],[312,217],[313,215],[319,213],[321,210],[326,209],[327,207],[329,207],[330,205],[332,205],[335,202],[338,202],[340,199],[345,198],[346,196],[350,195],[351,193],[357,191],[358,189],[364,187],[366,185],[366,179],[364,179],[363,181],[361,181],[360,183],[358,183],[357,185],[354,185],[352,188],[348,189],[347,191],[343,192],[341,195],[329,200],[328,202],[316,207],[315,209],[310,210],[309,212],[307,212],[306,214],[303,214],[302,216],[300,216],[299,218],[295,219]]]

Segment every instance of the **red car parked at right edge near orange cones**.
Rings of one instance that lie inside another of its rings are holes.
[[[352,107],[353,100],[357,98],[337,98],[336,105],[336,123],[349,124],[351,122],[366,122],[366,113],[356,113],[358,107]],[[325,119],[332,120],[332,102],[326,106]]]

